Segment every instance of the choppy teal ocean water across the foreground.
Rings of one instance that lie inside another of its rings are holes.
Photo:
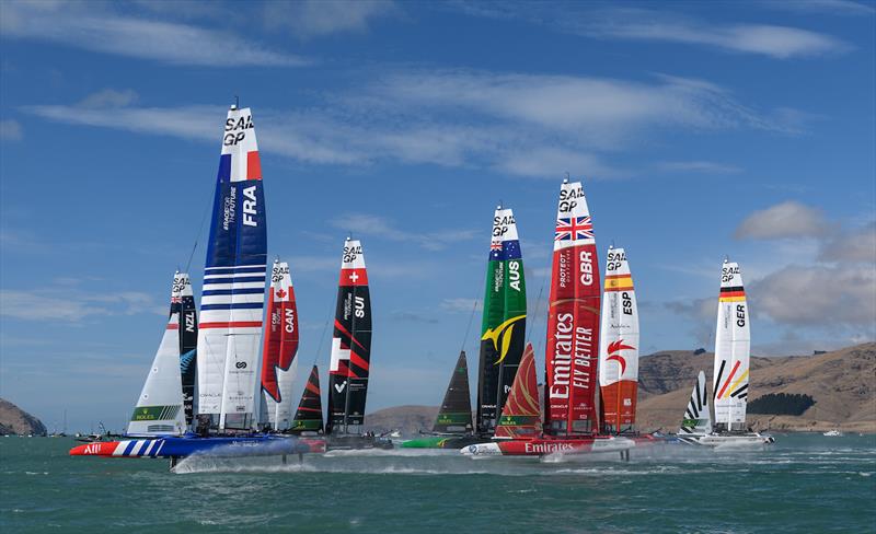
[[[168,462],[0,438],[0,531],[876,532],[876,437],[576,458],[373,451]],[[291,460],[291,458],[290,458]]]

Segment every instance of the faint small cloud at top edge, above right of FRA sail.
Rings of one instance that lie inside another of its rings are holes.
[[[372,20],[399,12],[392,0],[274,0],[265,3],[268,28],[288,28],[301,38],[364,33]]]

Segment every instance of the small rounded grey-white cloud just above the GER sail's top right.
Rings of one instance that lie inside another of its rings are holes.
[[[794,200],[754,211],[736,229],[737,240],[774,240],[782,237],[820,237],[831,225],[818,208]]]

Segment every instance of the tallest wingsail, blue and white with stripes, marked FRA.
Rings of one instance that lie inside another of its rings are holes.
[[[198,329],[198,414],[220,429],[254,426],[266,229],[250,108],[228,112],[216,182]]]

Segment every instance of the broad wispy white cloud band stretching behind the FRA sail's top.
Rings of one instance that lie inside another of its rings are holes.
[[[658,77],[643,83],[460,70],[395,71],[372,79],[355,92],[326,95],[323,106],[256,109],[260,148],[309,164],[394,161],[518,176],[569,171],[613,178],[633,173],[613,165],[610,154],[652,131],[785,131],[700,80]],[[136,97],[131,90],[104,90],[85,98],[91,107],[23,109],[73,125],[218,139],[220,107],[145,107],[132,105]]]

